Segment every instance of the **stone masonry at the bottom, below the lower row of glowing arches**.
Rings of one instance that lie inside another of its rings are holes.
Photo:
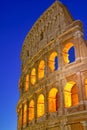
[[[87,111],[67,114],[67,116],[52,116],[31,122],[17,130],[87,130]]]

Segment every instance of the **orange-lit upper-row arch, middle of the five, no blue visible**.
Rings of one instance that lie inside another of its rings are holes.
[[[38,78],[39,79],[42,79],[44,77],[44,69],[45,69],[45,62],[44,62],[44,60],[41,60],[39,67],[38,67]]]

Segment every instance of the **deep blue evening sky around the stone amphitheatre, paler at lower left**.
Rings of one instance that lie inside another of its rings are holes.
[[[0,1],[0,130],[17,130],[20,53],[25,36],[55,0]],[[60,0],[84,25],[87,39],[87,0]]]

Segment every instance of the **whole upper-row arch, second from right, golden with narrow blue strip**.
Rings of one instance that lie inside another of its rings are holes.
[[[53,52],[49,57],[49,68],[52,72],[58,69],[58,56],[56,52]]]

